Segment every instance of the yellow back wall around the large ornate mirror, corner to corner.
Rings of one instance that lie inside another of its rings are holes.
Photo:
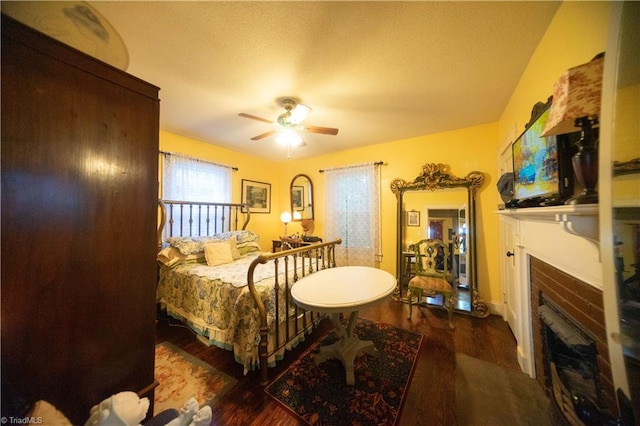
[[[396,272],[396,198],[391,192],[391,181],[402,178],[413,181],[422,171],[425,163],[444,163],[450,166],[452,174],[464,177],[471,171],[485,173],[485,183],[477,197],[478,220],[478,282],[480,294],[491,300],[492,287],[498,286],[499,271],[497,266],[498,238],[485,238],[484,235],[497,236],[498,228],[495,210],[498,194],[494,190],[496,184],[496,140],[497,123],[459,129],[436,135],[420,136],[411,139],[371,145],[364,148],[340,151],[310,159],[289,161],[281,164],[282,184],[287,184],[297,173],[305,173],[311,177],[315,190],[316,234],[322,235],[324,227],[324,211],[322,200],[325,197],[324,178],[320,169],[359,164],[368,161],[384,161],[381,168],[382,188],[382,263],[381,268]],[[486,149],[483,147],[487,147]],[[452,156],[452,152],[462,153]],[[284,193],[284,189],[281,192]],[[288,209],[285,200],[283,209]],[[299,230],[299,225],[290,225],[290,230]],[[483,294],[484,293],[484,294]],[[486,296],[485,296],[486,295]],[[499,295],[499,294],[498,294]],[[496,296],[498,297],[498,296]]]

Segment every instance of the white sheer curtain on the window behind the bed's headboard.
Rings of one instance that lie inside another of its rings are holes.
[[[209,163],[190,157],[176,154],[162,153],[162,198],[178,201],[205,201],[216,203],[231,202],[231,172],[232,168],[219,164]],[[195,215],[195,213],[194,213]],[[206,229],[206,215],[193,217],[193,226]],[[226,218],[229,220],[230,218]],[[175,219],[174,219],[175,220]],[[176,230],[189,229],[190,218],[185,215],[183,223],[174,221]],[[222,217],[218,218],[221,227]],[[198,225],[198,222],[199,225]],[[165,226],[165,237],[168,235],[168,225]]]

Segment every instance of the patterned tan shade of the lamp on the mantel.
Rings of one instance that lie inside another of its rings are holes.
[[[604,55],[598,55],[560,76],[553,88],[553,103],[542,136],[577,132],[577,118],[600,115],[603,69]]]

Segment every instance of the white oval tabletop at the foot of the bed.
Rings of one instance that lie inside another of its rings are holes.
[[[390,296],[395,287],[395,277],[381,269],[340,266],[300,279],[291,287],[291,296],[301,308],[335,313],[374,306]]]

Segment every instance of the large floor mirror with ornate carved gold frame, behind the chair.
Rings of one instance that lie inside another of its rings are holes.
[[[441,163],[423,165],[412,182],[400,178],[391,182],[391,191],[397,199],[395,300],[407,301],[407,285],[413,273],[412,245],[421,239],[435,238],[450,248],[448,264],[455,311],[480,318],[489,315],[488,305],[478,296],[476,265],[475,197],[483,182],[482,172],[473,171],[460,178]],[[422,304],[441,304],[430,299]]]

